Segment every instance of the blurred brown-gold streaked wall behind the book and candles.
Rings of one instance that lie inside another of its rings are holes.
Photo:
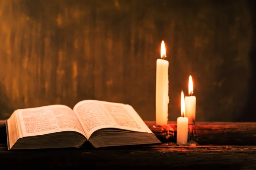
[[[253,0],[0,0],[0,119],[84,99],[155,120],[166,44],[169,120],[192,75],[196,121],[256,121]]]

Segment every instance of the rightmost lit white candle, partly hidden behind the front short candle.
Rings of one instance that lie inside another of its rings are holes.
[[[189,76],[189,96],[185,97],[185,110],[186,117],[189,118],[189,125],[195,125],[195,105],[196,97],[193,94],[193,81],[192,76]]]

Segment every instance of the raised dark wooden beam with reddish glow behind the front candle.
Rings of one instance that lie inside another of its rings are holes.
[[[162,142],[176,142],[177,122],[154,126],[145,122]],[[189,126],[189,140],[198,144],[256,145],[256,122],[196,122]]]

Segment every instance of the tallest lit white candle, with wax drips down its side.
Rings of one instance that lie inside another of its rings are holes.
[[[169,104],[169,62],[165,60],[166,48],[164,42],[161,43],[161,59],[157,59],[156,72],[156,125],[167,125],[168,104]]]

